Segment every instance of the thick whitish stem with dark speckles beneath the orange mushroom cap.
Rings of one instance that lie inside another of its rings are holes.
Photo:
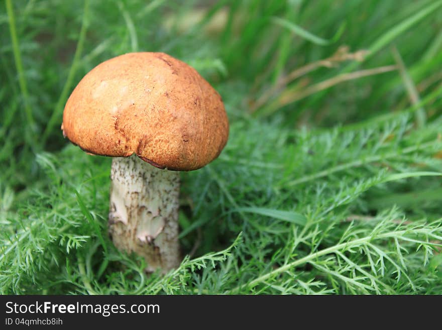
[[[115,246],[144,257],[147,272],[178,267],[179,172],[132,155],[113,159],[111,179],[109,234]]]

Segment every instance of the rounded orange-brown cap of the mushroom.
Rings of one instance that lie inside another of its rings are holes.
[[[229,137],[223,100],[199,73],[164,53],[129,53],[87,73],[63,112],[63,135],[86,152],[137,154],[190,171],[215,159]]]

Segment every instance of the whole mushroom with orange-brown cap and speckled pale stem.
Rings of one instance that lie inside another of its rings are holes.
[[[226,145],[220,95],[167,54],[129,53],[81,79],[61,129],[87,153],[114,157],[108,225],[115,246],[144,257],[148,272],[176,268],[178,171],[203,167]]]

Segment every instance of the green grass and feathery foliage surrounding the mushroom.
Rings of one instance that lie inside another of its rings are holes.
[[[442,294],[442,2],[0,6],[0,293]],[[107,237],[111,159],[63,139],[95,65],[163,51],[222,94],[181,174],[181,266]]]

